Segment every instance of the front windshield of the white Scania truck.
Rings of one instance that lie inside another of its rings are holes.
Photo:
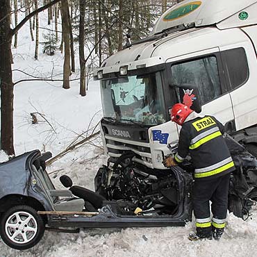
[[[103,117],[147,125],[165,121],[160,72],[101,81]]]

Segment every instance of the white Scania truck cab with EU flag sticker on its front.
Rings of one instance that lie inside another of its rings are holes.
[[[147,38],[127,45],[94,73],[101,81],[106,154],[165,169],[179,137],[168,109],[199,92],[201,111],[257,156],[257,0],[183,1]],[[188,85],[188,90],[187,90]],[[190,88],[196,86],[197,90]]]

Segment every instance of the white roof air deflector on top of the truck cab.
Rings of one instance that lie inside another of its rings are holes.
[[[181,24],[208,26],[225,21],[222,28],[257,24],[257,0],[185,0],[169,8],[158,19],[151,35]],[[231,19],[231,17],[235,17]]]

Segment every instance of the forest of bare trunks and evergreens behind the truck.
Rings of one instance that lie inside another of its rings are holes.
[[[1,87],[1,149],[15,155],[13,142],[14,87],[12,49],[19,45],[19,30],[29,23],[31,41],[35,42],[35,60],[38,46],[44,44],[44,53],[61,51],[63,88],[69,88],[70,76],[80,72],[80,92],[86,95],[87,83],[94,67],[107,57],[122,50],[127,40],[145,38],[156,19],[177,1],[167,0],[1,0],[0,5],[0,87]],[[53,29],[40,26],[39,14],[46,12]],[[39,35],[44,30],[44,41]],[[86,53],[86,54],[85,54]],[[79,62],[75,62],[75,54]],[[28,81],[54,81],[54,78],[33,77]]]

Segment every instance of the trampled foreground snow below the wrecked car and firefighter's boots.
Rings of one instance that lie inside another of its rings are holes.
[[[229,215],[226,232],[219,241],[190,242],[190,222],[185,227],[83,229],[78,234],[46,232],[33,249],[16,251],[0,244],[3,256],[256,256],[256,213],[244,222]]]

